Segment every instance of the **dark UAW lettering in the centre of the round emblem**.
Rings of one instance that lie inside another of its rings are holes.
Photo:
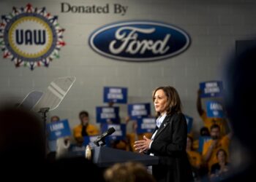
[[[26,45],[39,45],[45,44],[45,30],[19,30],[15,31],[16,34],[16,43],[17,44],[26,44]]]

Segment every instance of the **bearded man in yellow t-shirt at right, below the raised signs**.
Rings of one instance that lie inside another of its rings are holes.
[[[211,166],[214,163],[217,163],[217,151],[219,149],[224,149],[227,153],[227,159],[229,157],[229,146],[230,138],[232,137],[232,132],[221,137],[220,128],[218,124],[213,124],[211,126],[211,140],[206,141],[203,145],[203,159],[208,162],[208,169],[211,169]]]

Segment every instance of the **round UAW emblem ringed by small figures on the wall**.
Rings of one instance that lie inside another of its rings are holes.
[[[59,58],[59,50],[65,45],[62,40],[64,28],[59,26],[58,17],[27,4],[13,7],[9,15],[1,16],[0,47],[4,58],[10,58],[15,66],[49,66]]]

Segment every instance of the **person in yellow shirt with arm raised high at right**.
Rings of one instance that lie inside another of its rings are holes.
[[[201,97],[202,90],[197,91],[197,112],[203,120],[203,124],[205,127],[208,127],[208,130],[211,130],[212,124],[218,124],[220,128],[220,135],[224,136],[227,134],[227,121],[223,118],[211,118],[208,117],[206,111],[202,107]]]

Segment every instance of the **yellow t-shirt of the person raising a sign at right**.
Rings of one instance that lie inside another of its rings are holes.
[[[203,120],[203,123],[205,127],[208,128],[209,132],[211,132],[211,125],[212,124],[218,124],[220,127],[220,135],[224,136],[226,135],[226,120],[222,118],[211,118],[208,117],[206,114],[206,111],[203,111],[203,114],[201,115],[201,118]]]

